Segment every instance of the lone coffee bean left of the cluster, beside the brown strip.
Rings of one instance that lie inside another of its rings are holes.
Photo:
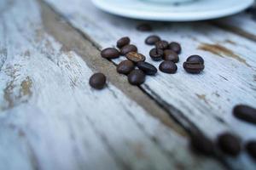
[[[102,73],[95,73],[90,77],[89,84],[92,88],[102,89],[106,84],[106,77]]]

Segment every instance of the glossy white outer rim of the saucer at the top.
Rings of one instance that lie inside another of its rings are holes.
[[[237,14],[241,12],[242,10],[250,7],[253,5],[254,0],[247,0],[247,2],[241,3],[241,6],[238,6],[236,8],[225,8],[220,9],[216,11],[212,11],[211,13],[206,12],[194,12],[194,14],[184,13],[184,14],[175,14],[175,13],[143,13],[142,12],[136,12],[133,11],[132,13],[128,12],[129,10],[124,12],[124,8],[111,8],[110,5],[104,5],[101,3],[102,0],[92,0],[92,3],[96,5],[97,8],[102,9],[103,11],[115,14],[119,16],[123,16],[125,18],[132,18],[137,20],[159,20],[159,21],[199,21],[199,20],[212,20],[212,19],[218,19],[225,16],[229,16],[232,14]]]

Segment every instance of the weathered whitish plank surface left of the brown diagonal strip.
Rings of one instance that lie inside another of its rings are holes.
[[[63,21],[45,6],[0,4],[1,170],[224,168],[191,153],[185,137],[112,83],[91,89],[90,67],[46,32],[41,12],[49,25]]]

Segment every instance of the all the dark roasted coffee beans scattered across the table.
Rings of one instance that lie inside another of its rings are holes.
[[[140,31],[150,31],[151,27],[148,25],[140,25],[137,27]],[[117,72],[128,77],[128,82],[131,85],[141,85],[146,80],[146,75],[154,76],[157,73],[157,68],[154,65],[146,62],[146,57],[138,53],[135,45],[130,44],[129,37],[121,37],[116,42],[116,47],[119,48],[105,48],[102,50],[102,58],[116,59],[123,55],[125,60],[117,65]],[[161,40],[160,37],[152,35],[146,38],[145,43],[154,45],[149,51],[149,56],[154,61],[163,60],[159,65],[159,70],[168,74],[174,74],[177,71],[176,63],[179,61],[178,55],[181,54],[182,48],[178,42],[167,42]],[[183,63],[185,71],[191,74],[199,74],[204,70],[204,59],[200,55],[191,55]],[[105,87],[106,77],[102,73],[96,73],[90,77],[90,86],[96,89]],[[245,122],[256,124],[256,110],[247,105],[237,105],[233,111],[234,116]],[[242,150],[241,139],[232,133],[221,133],[218,135],[215,144],[207,139],[201,133],[193,133],[190,136],[191,146],[205,155],[213,155],[216,148],[221,150],[224,154],[229,156],[238,156]],[[256,159],[256,140],[252,140],[245,144],[247,153]]]

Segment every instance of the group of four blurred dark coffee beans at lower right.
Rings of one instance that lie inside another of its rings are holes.
[[[256,109],[250,106],[236,105],[233,115],[242,121],[256,124]],[[201,133],[192,133],[190,144],[194,150],[208,156],[216,153],[218,148],[225,155],[234,157],[238,156],[244,148],[250,156],[256,159],[256,140],[250,140],[242,147],[241,139],[229,132],[219,134],[215,144]]]

